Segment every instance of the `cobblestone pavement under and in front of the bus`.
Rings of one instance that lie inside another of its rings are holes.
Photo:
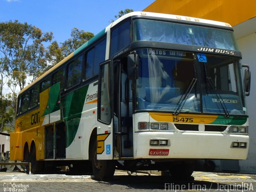
[[[132,174],[116,172],[112,180],[96,181],[93,176],[64,176],[61,174],[32,175],[10,173],[0,174],[1,191],[26,192],[77,192],[77,191],[254,191],[256,180],[248,175],[218,175],[207,172],[194,172],[189,180],[178,181],[170,176]],[[19,176],[19,177],[17,177]],[[8,178],[8,180],[6,180]]]

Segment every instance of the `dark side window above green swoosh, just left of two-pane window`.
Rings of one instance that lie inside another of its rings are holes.
[[[82,79],[82,61],[83,56],[81,55],[68,65],[67,89],[80,84]]]

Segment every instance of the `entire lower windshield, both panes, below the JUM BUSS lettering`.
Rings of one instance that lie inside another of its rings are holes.
[[[238,58],[151,48],[136,51],[136,110],[245,114]]]

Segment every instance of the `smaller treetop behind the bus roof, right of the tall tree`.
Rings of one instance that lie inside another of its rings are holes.
[[[70,34],[71,38],[60,43],[54,41],[50,46],[48,46],[48,62],[50,66],[54,66],[66,56],[74,52],[77,48],[82,46],[92,37],[94,34],[92,32],[85,32],[84,30],[78,30],[78,28],[73,28]]]

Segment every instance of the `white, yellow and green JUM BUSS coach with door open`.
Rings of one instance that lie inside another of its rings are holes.
[[[248,154],[250,70],[224,22],[131,12],[18,94],[10,160],[191,176]],[[245,67],[245,70],[243,70]]]

